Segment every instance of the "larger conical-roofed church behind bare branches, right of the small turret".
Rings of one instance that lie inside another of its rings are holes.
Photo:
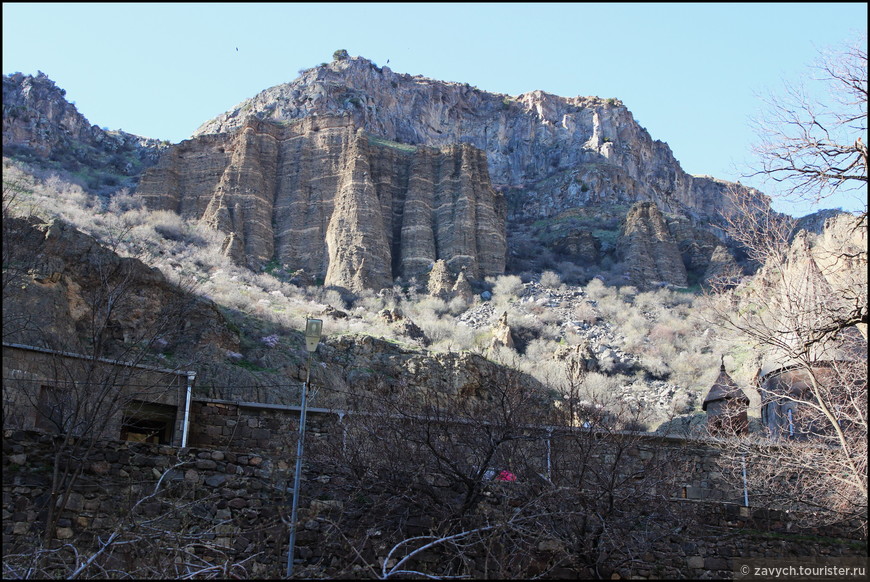
[[[845,260],[839,246],[831,247],[837,249],[834,252],[823,252],[814,248],[806,232],[799,233],[792,243],[770,305],[771,318],[782,329],[791,331],[777,337],[778,347],[765,354],[755,380],[761,394],[761,421],[774,441],[811,439],[832,429],[831,420],[815,406],[817,392],[813,386],[828,393],[825,404],[832,409],[852,407],[850,398],[860,392],[849,386],[853,380],[848,370],[866,365],[866,325],[840,326],[855,308],[847,298],[857,300],[858,289],[867,284],[864,231],[864,263],[857,261],[849,268],[832,268],[831,261]],[[860,256],[858,248],[853,249],[856,256]],[[817,259],[826,265],[825,270]],[[825,328],[831,331],[824,332]],[[854,376],[857,379],[861,374]],[[866,399],[866,376],[863,381],[864,394],[860,398]],[[841,397],[844,401],[838,403]],[[843,409],[832,412],[838,422],[845,421],[840,414]]]

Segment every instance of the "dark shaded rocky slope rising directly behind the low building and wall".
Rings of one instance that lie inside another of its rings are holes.
[[[226,309],[59,220],[4,212],[3,238],[4,342],[180,365],[198,371],[202,396],[298,403],[292,388],[307,373],[300,332],[286,330],[252,348],[245,324]],[[429,353],[370,336],[327,336],[317,358],[312,379],[324,388],[315,406],[346,407],[351,392],[485,397],[488,387],[505,382],[544,393],[529,375],[478,354]]]

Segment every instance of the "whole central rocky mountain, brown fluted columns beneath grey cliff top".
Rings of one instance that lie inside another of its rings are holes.
[[[716,241],[729,188],[763,197],[683,172],[618,100],[487,93],[337,51],[203,124],[139,193],[210,221],[242,264],[274,261],[359,290],[425,276],[440,259],[472,281],[500,274],[516,267],[519,225],[580,208],[615,222],[569,228],[543,251],[584,266],[628,261],[634,284],[685,286],[684,272],[698,282],[717,247],[726,252]],[[654,238],[679,253],[655,264],[634,254],[654,246],[653,231],[614,209],[638,202],[676,225]],[[617,249],[612,239],[626,232],[633,242]]]

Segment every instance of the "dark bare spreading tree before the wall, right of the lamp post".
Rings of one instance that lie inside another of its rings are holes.
[[[365,511],[326,535],[381,579],[609,576],[637,559],[625,540],[673,517],[677,474],[664,447],[630,430],[643,411],[615,399],[554,410],[518,372],[491,380],[476,393],[352,397],[359,412],[319,460],[338,460],[344,498]]]

